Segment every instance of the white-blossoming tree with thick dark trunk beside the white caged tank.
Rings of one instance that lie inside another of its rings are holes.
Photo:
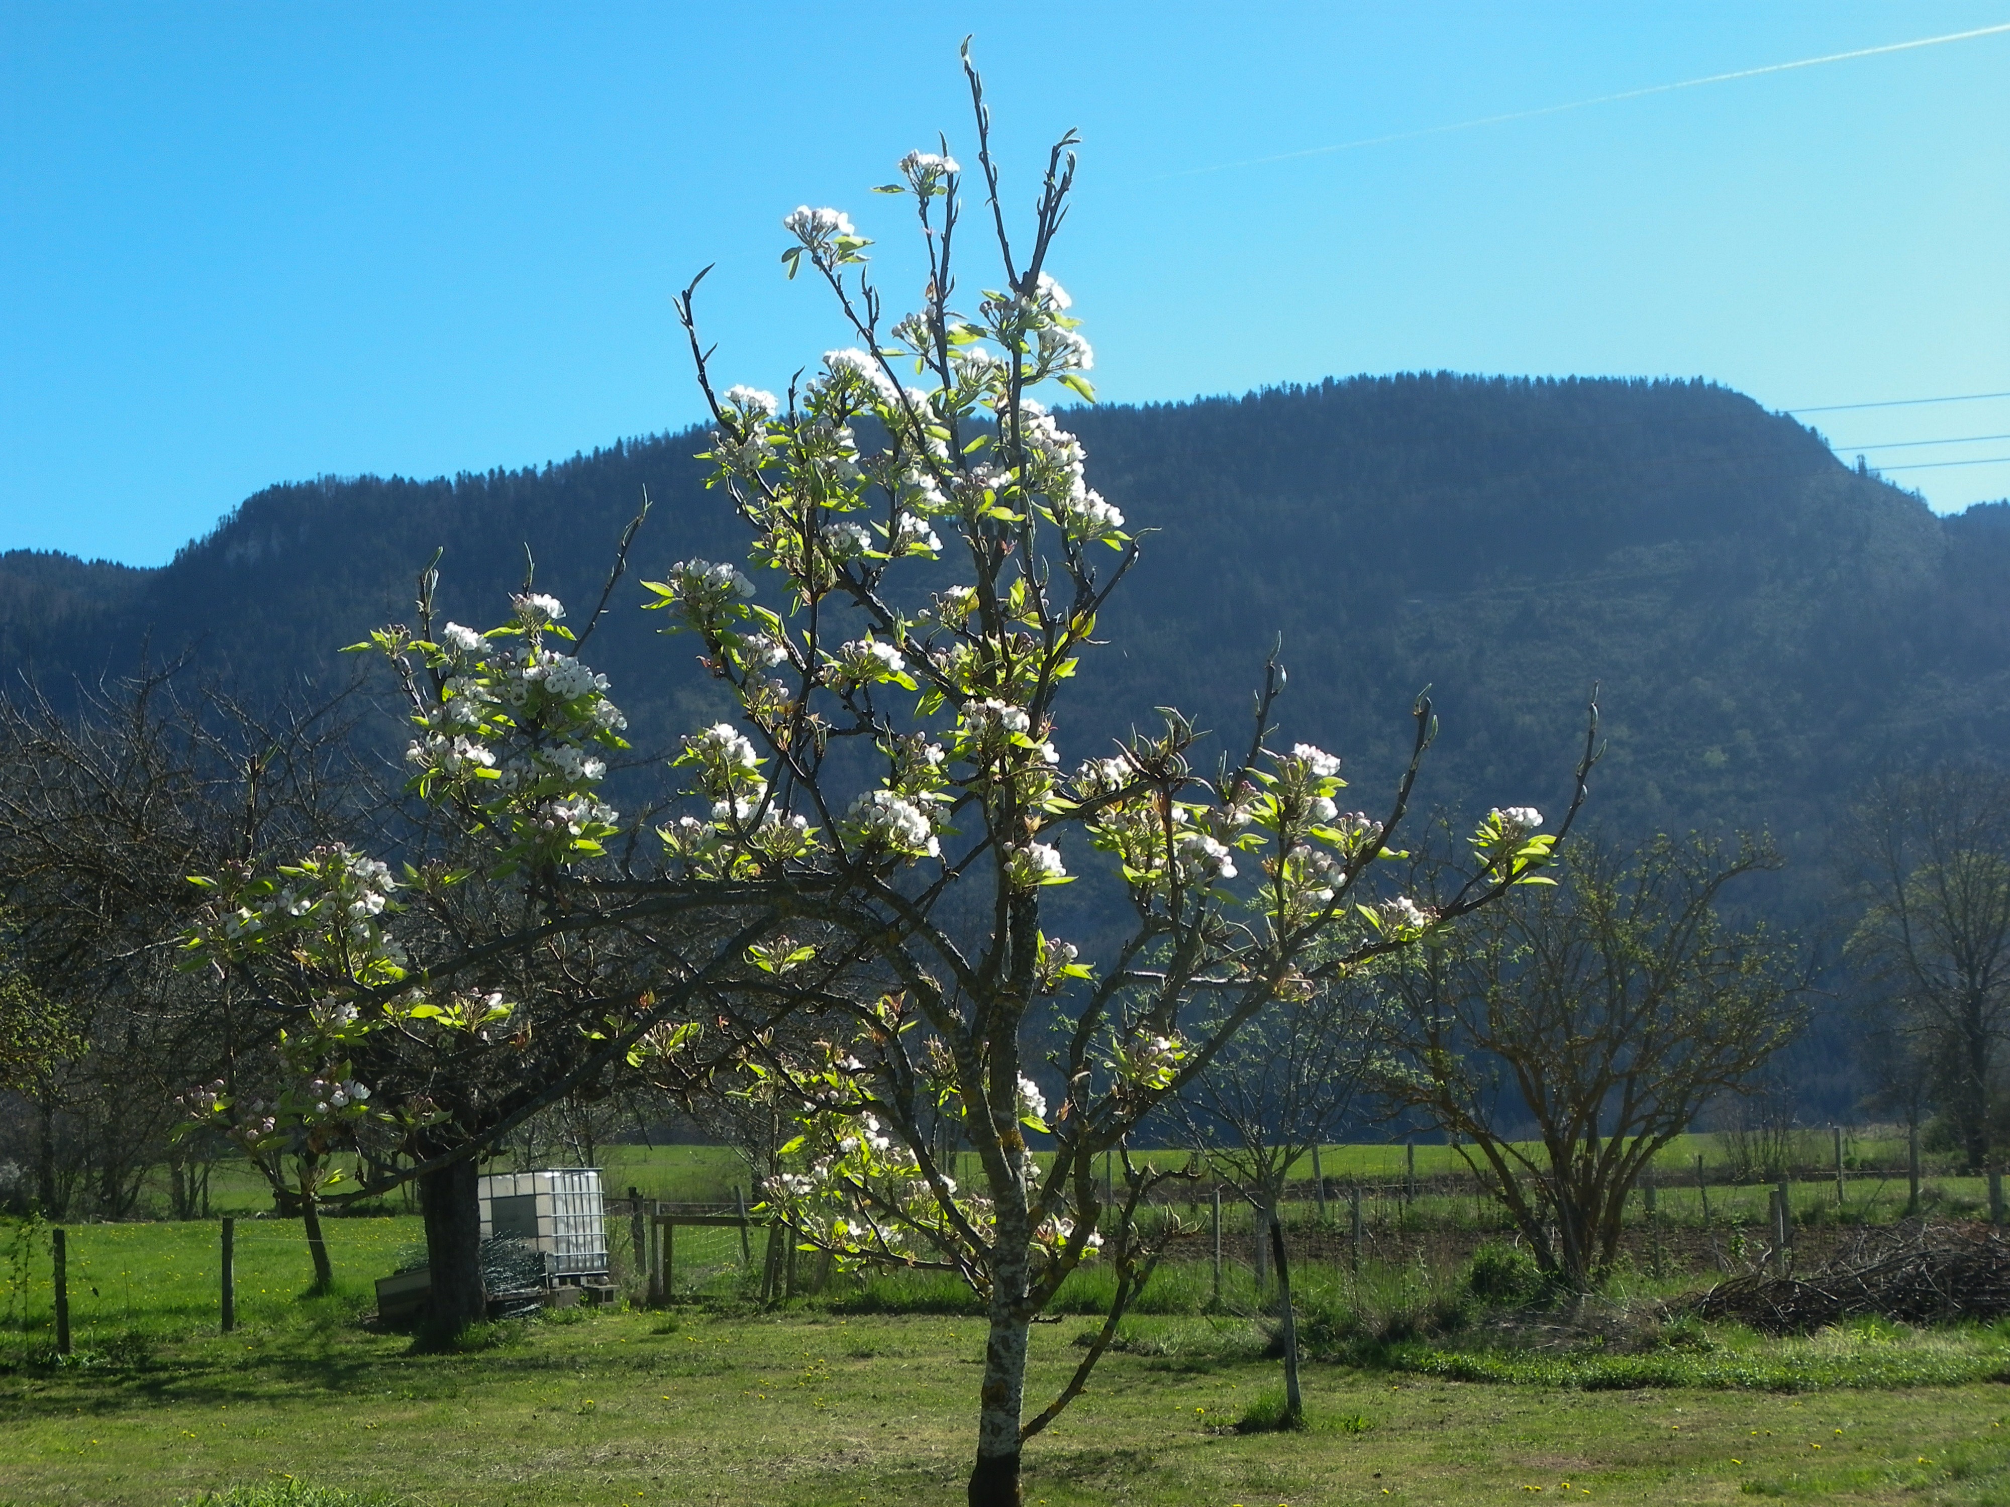
[[[478,1157],[547,1105],[603,1091],[643,1043],[661,1071],[691,1061],[669,1047],[695,1035],[693,997],[750,971],[772,918],[689,886],[625,894],[629,870],[601,846],[623,828],[599,796],[625,719],[565,653],[565,607],[527,587],[476,633],[434,623],[432,587],[428,569],[416,633],[360,647],[398,669],[412,792],[446,820],[406,834],[402,874],[332,844],[197,880],[211,906],[191,964],[249,999],[263,1033],[185,1103],[289,1194],[291,1159],[310,1216],[416,1177],[432,1322],[450,1332],[484,1312]],[[587,872],[613,888],[585,888]],[[360,1159],[342,1192],[332,1151]]]

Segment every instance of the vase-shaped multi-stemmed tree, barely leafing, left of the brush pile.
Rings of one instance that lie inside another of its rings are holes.
[[[1538,1264],[1594,1284],[1656,1151],[1801,1029],[1795,948],[1729,928],[1727,884],[1765,842],[1580,844],[1562,886],[1518,898],[1389,973],[1379,1087],[1459,1137]],[[1510,1127],[1536,1121],[1534,1143]]]

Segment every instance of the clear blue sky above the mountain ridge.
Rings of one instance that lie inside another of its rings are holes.
[[[2010,392],[2010,24],[1976,4],[0,8],[0,549],[165,561],[316,474],[567,456],[842,332],[776,261],[985,68],[1007,193],[1083,135],[1057,273],[1105,400],[1329,374],[1708,376],[1775,408]],[[1379,145],[1298,155],[1335,143]],[[969,269],[967,269],[969,271]],[[975,273],[971,273],[975,277]],[[2010,398],[1811,414],[1936,508]],[[1936,444],[1916,444],[1934,440]],[[1938,444],[1958,440],[1956,444]],[[1909,448],[1907,448],[1909,446]],[[1899,470],[1899,466],[1907,466]]]

